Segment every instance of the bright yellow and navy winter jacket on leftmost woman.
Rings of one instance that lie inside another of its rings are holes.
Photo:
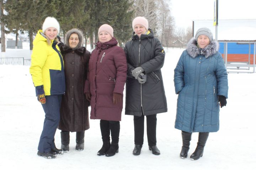
[[[65,74],[63,57],[57,42],[52,40],[48,45],[47,39],[38,30],[33,41],[30,74],[34,86],[44,87],[46,96],[65,93]]]

